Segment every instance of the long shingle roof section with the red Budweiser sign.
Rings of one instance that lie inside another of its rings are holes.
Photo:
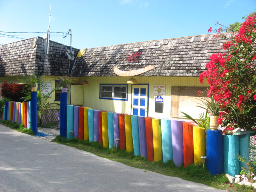
[[[225,41],[208,34],[88,48],[84,56],[77,58],[72,76],[117,76],[115,66],[128,71],[148,65],[155,68],[139,76],[199,76],[206,70],[210,56],[223,52],[220,48]],[[135,48],[141,52],[140,56],[127,62],[128,54],[135,52]]]

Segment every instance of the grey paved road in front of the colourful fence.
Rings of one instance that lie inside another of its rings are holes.
[[[132,168],[94,154],[0,125],[3,192],[222,191],[180,178]]]

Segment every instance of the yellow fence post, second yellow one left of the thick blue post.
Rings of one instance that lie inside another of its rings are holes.
[[[152,119],[154,161],[161,161],[162,158],[162,133],[160,119]]]

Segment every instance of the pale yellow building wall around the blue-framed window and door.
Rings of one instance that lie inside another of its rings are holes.
[[[128,85],[128,101],[100,99],[100,84],[126,84],[130,77],[86,77],[89,84],[84,85],[84,106],[96,110],[131,114],[131,84]],[[191,86],[206,87],[200,84],[198,77],[134,77],[138,84],[149,84],[148,116],[155,118],[170,118],[171,87]],[[155,113],[154,85],[165,85],[163,113]]]

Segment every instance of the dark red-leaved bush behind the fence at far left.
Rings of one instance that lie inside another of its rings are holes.
[[[15,102],[22,102],[20,98],[24,97],[24,94],[22,93],[24,88],[24,84],[8,83],[4,80],[1,84],[0,96],[3,98],[10,98]]]

